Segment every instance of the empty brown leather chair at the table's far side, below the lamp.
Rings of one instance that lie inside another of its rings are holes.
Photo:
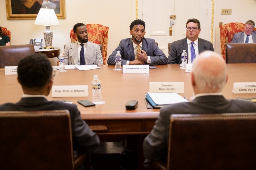
[[[22,58],[32,54],[35,54],[33,44],[0,46],[0,68],[17,66]]]

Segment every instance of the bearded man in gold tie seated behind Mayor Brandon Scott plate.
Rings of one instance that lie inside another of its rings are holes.
[[[120,41],[119,46],[109,56],[108,64],[116,64],[115,56],[118,51],[120,51],[122,55],[122,65],[167,64],[168,59],[163,51],[157,47],[154,39],[144,38],[145,33],[144,21],[132,21],[130,24],[130,34],[132,38],[126,38]]]

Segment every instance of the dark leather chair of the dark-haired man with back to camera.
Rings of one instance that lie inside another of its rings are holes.
[[[0,129],[1,169],[75,169],[87,156],[74,160],[68,110],[2,111]]]

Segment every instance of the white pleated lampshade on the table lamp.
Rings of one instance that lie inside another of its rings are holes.
[[[34,24],[44,26],[59,25],[59,21],[53,9],[41,8]]]

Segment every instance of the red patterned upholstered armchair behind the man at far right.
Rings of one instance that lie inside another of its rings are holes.
[[[254,28],[254,31],[256,28]],[[230,43],[237,32],[244,31],[244,24],[241,22],[229,22],[220,26],[220,47],[221,55],[226,59],[226,43]]]

